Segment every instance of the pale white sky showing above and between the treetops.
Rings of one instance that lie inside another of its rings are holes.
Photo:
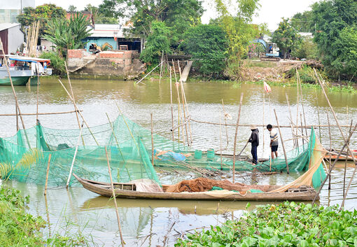
[[[291,17],[298,12],[304,12],[304,10],[309,10],[309,6],[317,0],[260,0],[260,10],[258,10],[258,16],[253,18],[253,23],[267,23],[267,27],[270,31],[274,31],[281,17]],[[64,9],[68,9],[69,5],[74,5],[78,10],[83,9],[88,3],[93,6],[98,6],[102,3],[102,0],[36,0],[36,6],[43,3],[55,3],[57,6],[61,6]],[[206,10],[202,16],[202,22],[208,23],[211,17],[216,17],[216,12],[214,11],[213,0],[204,0],[203,6]]]

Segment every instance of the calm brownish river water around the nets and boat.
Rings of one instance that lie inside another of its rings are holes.
[[[68,84],[63,80],[66,86]],[[73,92],[78,108],[83,110],[85,120],[90,126],[106,123],[106,113],[113,120],[118,115],[118,108],[128,118],[146,128],[150,128],[150,113],[153,113],[154,132],[171,138],[171,110],[169,83],[158,80],[147,80],[146,85],[134,85],[132,81],[111,80],[72,80]],[[232,116],[228,124],[237,122],[239,98],[244,93],[241,108],[240,123],[262,124],[263,111],[264,123],[276,124],[274,109],[280,125],[288,125],[289,109],[286,104],[286,94],[290,101],[293,120],[296,120],[297,88],[296,87],[272,87],[272,93],[265,97],[263,107],[262,85],[253,84],[224,84],[224,83],[186,83],[184,85],[188,101],[188,111],[194,120],[205,122],[223,122],[222,99],[225,104],[225,112]],[[22,113],[36,112],[36,87],[15,87]],[[330,112],[325,97],[321,90],[302,89],[304,113],[307,125],[327,124],[326,113],[329,113],[330,122],[335,125],[335,120]],[[174,93],[174,116],[177,124],[177,104]],[[351,120],[356,122],[357,94],[343,92],[328,93],[330,103],[335,109],[341,125],[350,125]],[[317,101],[316,101],[317,99]],[[57,111],[73,111],[73,104],[57,79],[43,79],[39,89],[38,111],[41,113]],[[317,106],[318,104],[318,106]],[[300,99],[301,106],[301,99]],[[263,110],[264,108],[264,110]],[[10,87],[0,87],[0,113],[14,113],[15,100]],[[299,110],[299,116],[302,108]],[[320,120],[318,120],[318,113]],[[78,127],[76,116],[65,115],[41,115],[41,124],[55,129],[73,129]],[[35,124],[35,116],[25,116],[25,125],[30,127]],[[300,122],[300,118],[299,118]],[[12,136],[15,134],[15,117],[0,117],[0,136]],[[346,135],[347,127],[342,130]],[[260,146],[258,157],[269,157],[269,133],[260,130]],[[193,147],[207,150],[220,147],[219,125],[207,125],[192,122]],[[232,153],[235,127],[222,129],[223,146],[228,147],[224,153]],[[241,150],[250,134],[248,127],[239,127],[237,136],[237,150]],[[263,136],[264,133],[264,136]],[[331,128],[332,148],[340,148],[343,144],[342,136],[337,127]],[[330,138],[328,128],[316,128],[316,135],[321,136],[321,142],[328,148]],[[283,139],[291,138],[291,130],[282,129]],[[264,139],[264,141],[263,141]],[[293,141],[286,141],[286,150],[293,148]],[[351,149],[357,149],[357,136],[351,139]],[[279,146],[279,154],[282,155]],[[249,148],[244,152],[249,153]],[[353,172],[353,164],[346,169],[346,181],[349,182]],[[340,164],[343,167],[343,162]],[[270,176],[258,176],[260,184],[286,184],[293,181],[301,174],[274,174]],[[337,168],[332,173],[331,190],[327,185],[321,192],[320,204],[341,204],[343,190],[344,169]],[[237,178],[239,181],[239,178]],[[245,183],[253,180],[247,178]],[[51,188],[47,197],[43,197],[43,187],[31,184],[18,183],[16,181],[4,182],[18,190],[23,195],[30,195],[29,212],[35,216],[42,216],[50,225],[44,230],[44,234],[52,235],[74,234],[80,230],[85,236],[92,237],[92,245],[118,246],[120,238],[116,212],[113,200],[99,197],[83,188]],[[244,212],[246,202],[165,202],[155,200],[117,199],[119,213],[123,228],[123,235],[127,246],[156,246],[166,244],[173,245],[174,239],[186,230],[207,227],[224,222],[226,219],[235,218]],[[263,204],[251,202],[252,206]],[[357,209],[357,184],[353,180],[345,206],[346,209]],[[165,237],[167,236],[167,238]],[[165,240],[166,239],[166,240]]]

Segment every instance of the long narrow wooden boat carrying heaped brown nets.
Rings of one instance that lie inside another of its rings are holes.
[[[83,185],[83,188],[104,197],[111,197],[110,183],[91,181],[73,176]],[[165,185],[162,185],[165,187]],[[276,185],[276,188],[280,187]],[[229,192],[220,195],[216,191],[211,192],[138,192],[134,183],[114,183],[116,197],[131,199],[179,199],[179,200],[215,200],[215,201],[312,201],[316,196],[316,190],[310,186],[301,186],[298,189],[289,189],[287,192]],[[318,197],[319,199],[319,197]]]

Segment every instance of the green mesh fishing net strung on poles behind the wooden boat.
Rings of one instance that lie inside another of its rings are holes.
[[[290,171],[307,169],[315,141],[311,129],[309,143],[288,152]],[[232,160],[219,155],[203,153],[197,157],[195,150],[182,143],[153,135],[155,167],[200,167],[205,169],[231,169]],[[77,149],[77,153],[76,153]],[[21,182],[44,184],[46,170],[48,184],[66,184],[73,156],[73,173],[94,181],[109,182],[106,150],[111,164],[113,181],[129,182],[149,178],[160,184],[151,164],[151,131],[119,115],[106,125],[80,129],[50,129],[41,124],[21,129],[15,136],[0,138],[1,178]],[[196,152],[197,153],[197,152]],[[272,171],[286,169],[283,155],[274,159]],[[253,166],[250,162],[237,161],[237,170],[269,171],[269,162]],[[75,179],[71,178],[71,183]],[[70,184],[71,184],[70,183]]]

